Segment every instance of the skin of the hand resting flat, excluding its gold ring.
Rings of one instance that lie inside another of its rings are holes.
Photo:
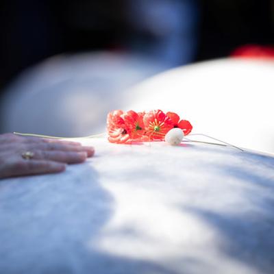
[[[25,151],[33,153],[31,159],[22,157]],[[66,164],[84,162],[94,153],[79,142],[0,134],[0,178],[59,173]]]

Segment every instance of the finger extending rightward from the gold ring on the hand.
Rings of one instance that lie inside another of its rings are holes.
[[[32,159],[35,160],[51,160],[54,162],[63,162],[66,164],[81,163],[86,160],[88,153],[86,151],[34,151]]]

